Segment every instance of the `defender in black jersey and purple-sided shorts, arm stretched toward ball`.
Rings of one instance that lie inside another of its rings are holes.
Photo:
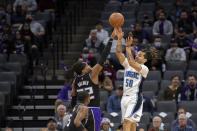
[[[116,30],[114,28],[111,37],[101,54],[98,63],[91,68],[85,62],[76,62],[73,65],[73,71],[77,74],[72,84],[72,105],[76,103],[76,97],[81,91],[88,91],[90,95],[89,109],[92,112],[89,115],[87,129],[88,131],[100,131],[101,110],[100,110],[100,94],[98,87],[98,76],[103,69],[103,64],[111,50],[112,41],[115,37]]]

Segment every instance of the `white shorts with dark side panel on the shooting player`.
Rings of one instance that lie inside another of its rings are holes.
[[[139,122],[142,116],[143,98],[141,95],[123,95],[121,100],[122,120]]]

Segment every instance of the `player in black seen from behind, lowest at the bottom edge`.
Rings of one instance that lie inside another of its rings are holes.
[[[90,95],[87,91],[79,92],[79,103],[74,107],[64,131],[87,131],[85,125],[88,118],[88,107]]]

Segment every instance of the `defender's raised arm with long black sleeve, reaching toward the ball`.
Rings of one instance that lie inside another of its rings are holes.
[[[92,68],[91,79],[94,82],[94,84],[98,84],[99,73],[103,69],[103,63],[105,62],[107,56],[109,55],[114,37],[115,37],[115,32],[113,31],[107,45],[105,46],[105,49],[103,50],[101,54],[101,57],[98,63]]]

